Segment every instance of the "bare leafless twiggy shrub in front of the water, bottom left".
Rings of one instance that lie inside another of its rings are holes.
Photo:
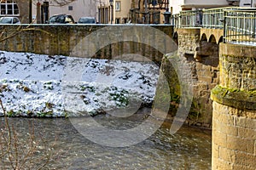
[[[50,147],[42,135],[35,134],[33,122],[29,133],[19,133],[6,115],[1,99],[0,105],[4,116],[0,125],[0,169],[48,169]]]

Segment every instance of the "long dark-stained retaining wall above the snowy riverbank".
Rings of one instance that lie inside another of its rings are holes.
[[[115,37],[116,34],[119,34],[117,28],[120,26],[109,26],[109,25],[91,25],[91,26],[79,26],[79,25],[21,25],[21,26],[0,26],[0,49],[6,51],[15,51],[15,52],[31,52],[35,54],[61,54],[69,56],[74,48],[76,47],[83,51],[84,45],[90,45],[90,43],[79,43],[84,39],[84,37],[95,33],[108,26],[109,32],[105,34],[96,35],[91,41],[98,41],[98,45],[101,45],[99,41],[100,38],[111,39]],[[122,28],[129,28],[132,26],[123,26]],[[141,26],[143,27],[143,26]],[[144,26],[147,29],[147,26]],[[160,25],[153,26],[155,29],[158,29],[172,37],[173,27]],[[113,30],[113,31],[112,31]],[[123,29],[124,30],[124,29]],[[126,31],[129,37],[129,31]],[[131,33],[131,32],[130,32]],[[140,32],[143,33],[143,32]],[[98,37],[97,37],[98,36]],[[100,36],[100,37],[99,37]],[[131,35],[130,35],[131,36]],[[150,35],[151,42],[164,41],[160,40],[159,37]],[[97,39],[98,38],[98,39]],[[122,54],[141,54],[148,59],[160,62],[163,54],[153,47],[150,47],[150,44],[143,44],[140,42],[113,42],[112,44],[106,45],[103,48],[100,48],[96,54],[92,57],[94,58],[104,58],[111,59],[113,56],[119,56]]]

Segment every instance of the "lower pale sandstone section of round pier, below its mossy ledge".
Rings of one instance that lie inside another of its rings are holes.
[[[255,169],[256,110],[213,102],[212,169]]]

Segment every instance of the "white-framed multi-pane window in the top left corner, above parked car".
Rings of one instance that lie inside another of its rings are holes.
[[[15,1],[0,1],[0,15],[19,15],[19,8]]]

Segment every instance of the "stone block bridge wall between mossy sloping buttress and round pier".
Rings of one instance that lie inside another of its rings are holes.
[[[212,126],[211,90],[219,81],[218,44],[200,40],[200,28],[177,30],[178,55],[190,65],[194,81],[194,99],[188,122]]]

